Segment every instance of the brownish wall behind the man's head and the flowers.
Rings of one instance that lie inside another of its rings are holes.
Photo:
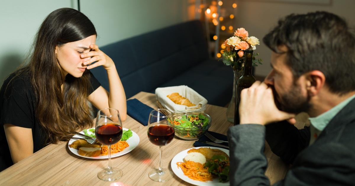
[[[236,27],[244,27],[251,36],[260,40],[276,26],[279,18],[291,13],[329,11],[345,18],[350,25],[355,26],[354,0],[331,0],[328,5],[287,3],[282,0],[239,0],[237,4]],[[256,68],[256,75],[266,76],[271,70],[271,51],[261,42],[256,52],[260,53],[264,60],[264,64]]]

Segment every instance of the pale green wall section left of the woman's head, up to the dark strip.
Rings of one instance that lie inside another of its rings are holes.
[[[27,57],[44,18],[55,9],[73,6],[70,0],[0,1],[0,86]]]

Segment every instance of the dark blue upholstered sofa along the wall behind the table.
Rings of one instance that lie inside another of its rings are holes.
[[[189,21],[100,47],[115,62],[129,98],[157,87],[187,85],[209,104],[230,101],[233,70],[209,59],[206,35],[200,21]],[[91,70],[109,90],[102,67]]]

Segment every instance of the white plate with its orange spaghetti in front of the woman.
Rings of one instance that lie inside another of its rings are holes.
[[[95,129],[95,128],[90,128],[90,129],[87,129],[88,131],[89,130],[92,130],[92,129]],[[123,128],[123,131],[129,131],[129,129],[127,128]],[[119,142],[111,145],[111,158],[114,158],[114,157],[117,157],[117,156],[121,156],[121,155],[124,155],[124,154],[127,154],[129,152],[131,152],[133,149],[135,149],[139,143],[139,136],[137,135],[137,133],[132,132],[132,137],[128,138],[126,141],[122,141],[120,140]],[[84,134],[84,132],[80,132],[82,134]],[[82,138],[80,137],[79,135],[74,135],[73,138]],[[91,158],[91,159],[107,159],[109,158],[108,156],[108,146],[107,145],[102,145],[101,146],[101,153],[100,155],[98,156],[93,156],[93,157],[90,157],[90,156],[82,156],[78,153],[78,149],[75,149],[75,148],[71,148],[70,145],[75,142],[77,139],[70,139],[69,143],[68,143],[68,148],[69,150],[77,155],[77,156],[81,156],[83,158]]]

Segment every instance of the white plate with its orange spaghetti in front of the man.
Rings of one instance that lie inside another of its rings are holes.
[[[218,147],[194,147],[191,149],[199,149],[199,148],[211,148],[211,149],[219,149],[224,153],[229,154],[229,150],[222,149]],[[186,149],[174,156],[171,160],[171,169],[174,174],[178,176],[181,180],[184,180],[193,185],[203,185],[203,186],[228,186],[228,182],[219,182],[218,177],[211,175],[208,172],[208,168],[204,166],[204,164],[196,163],[194,161],[184,161],[184,158],[187,156],[187,152],[191,149]]]

